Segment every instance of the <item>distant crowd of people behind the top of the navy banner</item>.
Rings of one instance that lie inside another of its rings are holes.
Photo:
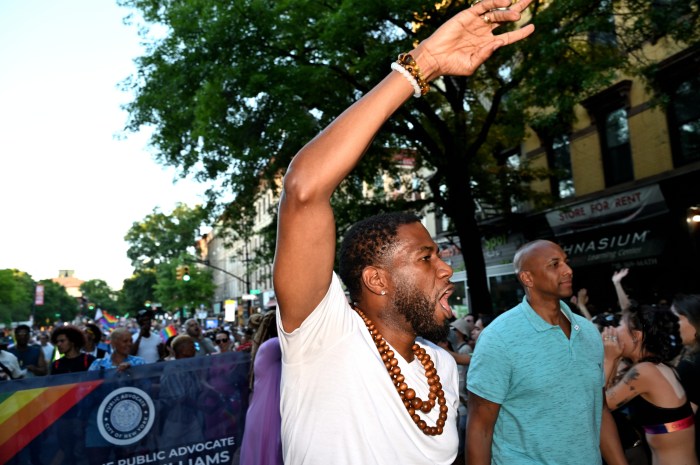
[[[166,337],[153,310],[140,310],[119,326],[100,327],[93,321],[36,329],[20,324],[0,336],[0,379],[14,380],[77,371],[117,369],[175,360],[183,356],[251,352],[263,313],[247,325],[224,325],[204,331],[196,319],[186,320]],[[167,325],[175,328],[174,325]],[[183,344],[185,343],[185,344]],[[183,351],[191,345],[193,350]],[[187,355],[183,355],[187,354]]]

